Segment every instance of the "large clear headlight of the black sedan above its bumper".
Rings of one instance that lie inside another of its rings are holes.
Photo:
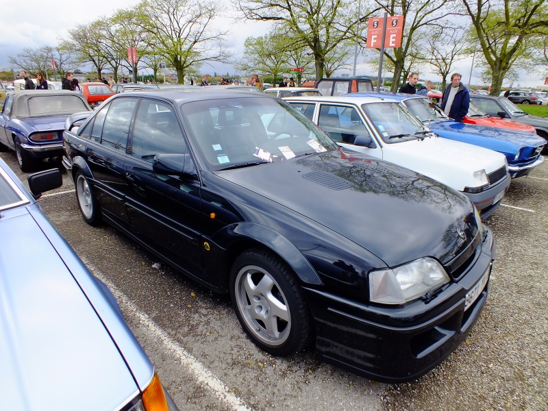
[[[403,304],[447,284],[449,276],[433,258],[419,258],[395,269],[369,273],[371,302]]]

